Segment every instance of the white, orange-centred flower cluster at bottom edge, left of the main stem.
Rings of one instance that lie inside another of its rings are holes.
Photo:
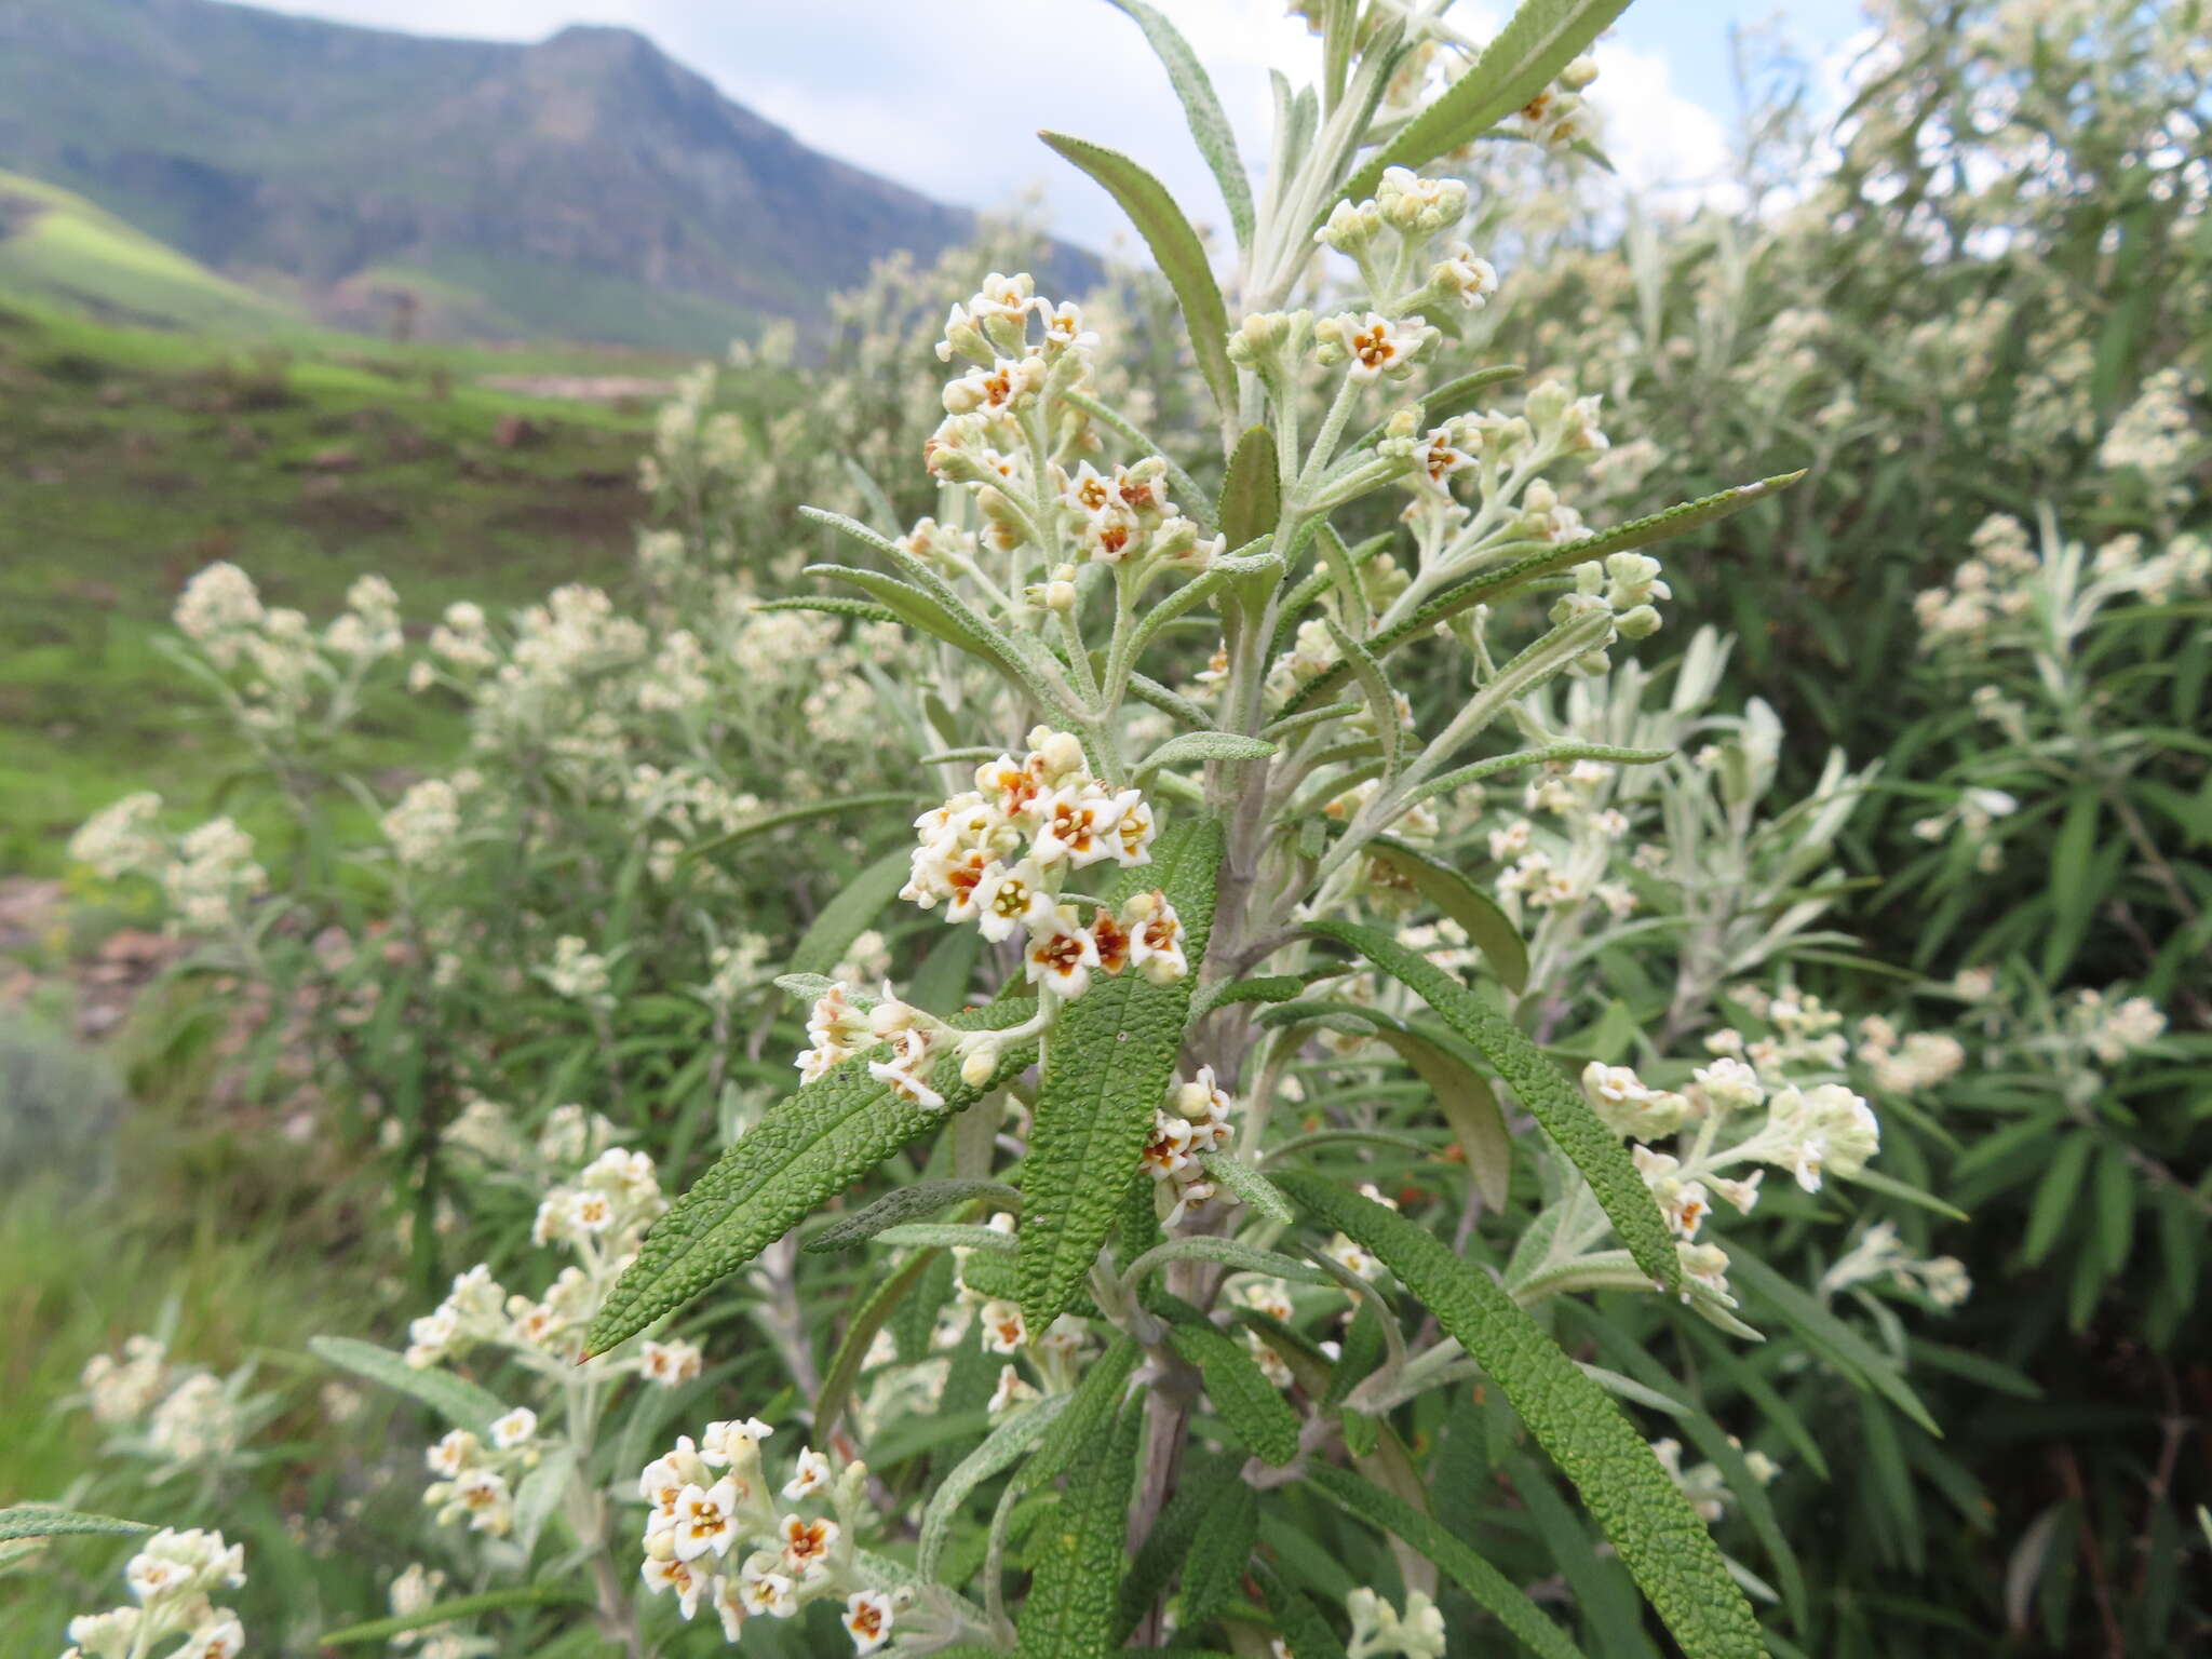
[[[637,1480],[650,1506],[646,1588],[675,1593],[686,1619],[706,1604],[730,1641],[745,1619],[790,1619],[810,1601],[841,1597],[854,1650],[876,1652],[891,1639],[902,1597],[863,1582],[854,1526],[867,1464],[834,1469],[801,1447],[779,1491],[790,1504],[823,1502],[832,1515],[781,1511],[761,1467],[761,1442],[772,1433],[759,1418],[710,1422],[699,1440],[681,1436],[646,1464]]]

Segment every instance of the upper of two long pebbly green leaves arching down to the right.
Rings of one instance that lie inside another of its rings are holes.
[[[1349,945],[1394,980],[1411,989],[1422,1002],[1436,1009],[1438,1018],[1453,1033],[1475,1046],[1475,1051],[1498,1068],[1513,1093],[1520,1095],[1544,1133],[1582,1170],[1590,1183],[1590,1194],[1604,1208],[1606,1219],[1621,1243],[1628,1245],[1655,1285],[1681,1290],[1681,1261],[1674,1254],[1674,1237],[1652,1201],[1650,1188],[1628,1157],[1621,1137],[1590,1110],[1559,1068],[1528,1037],[1498,1013],[1491,1004],[1453,980],[1429,958],[1409,951],[1389,933],[1354,922],[1318,920],[1307,922],[1310,931]]]

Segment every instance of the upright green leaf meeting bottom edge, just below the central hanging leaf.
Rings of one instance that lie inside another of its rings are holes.
[[[1018,1628],[1022,1659],[1106,1659],[1113,1652],[1141,1431],[1144,1411],[1135,1405],[1099,1425],[1068,1475],[1060,1511],[1031,1537],[1035,1577]]]

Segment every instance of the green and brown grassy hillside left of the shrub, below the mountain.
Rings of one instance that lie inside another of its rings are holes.
[[[212,560],[310,615],[380,571],[411,626],[460,597],[619,580],[650,409],[478,380],[675,365],[303,330],[241,345],[0,299],[0,874],[55,872],[69,830],[128,787],[212,803],[237,752],[155,650]],[[449,717],[378,719],[396,761]]]

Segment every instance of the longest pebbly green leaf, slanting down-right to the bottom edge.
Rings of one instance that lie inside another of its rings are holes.
[[[1613,1396],[1486,1272],[1336,1181],[1283,1172],[1276,1183],[1321,1225],[1367,1245],[1489,1371],[1690,1659],[1765,1659],[1752,1606],[1690,1500]]]

